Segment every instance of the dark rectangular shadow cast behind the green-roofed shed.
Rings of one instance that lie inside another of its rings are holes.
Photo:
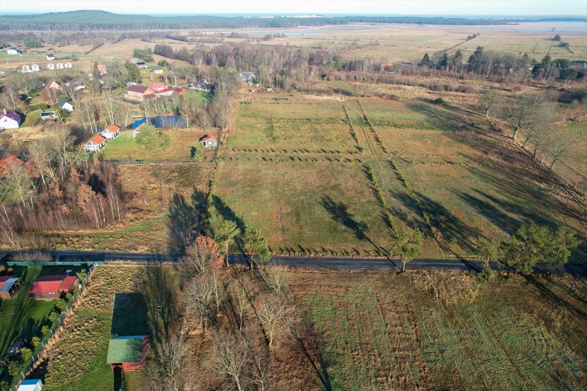
[[[147,303],[142,293],[124,292],[114,295],[112,336],[150,335]]]

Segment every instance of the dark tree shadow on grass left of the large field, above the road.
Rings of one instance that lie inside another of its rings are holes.
[[[183,253],[185,247],[192,244],[200,234],[206,210],[202,199],[205,200],[205,196],[196,190],[191,196],[191,203],[188,203],[183,195],[174,193],[168,206],[167,222],[167,247],[171,253]]]

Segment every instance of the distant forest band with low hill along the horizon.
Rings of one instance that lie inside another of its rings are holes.
[[[423,18],[419,16],[340,16],[333,18],[250,18],[244,16],[120,15],[106,11],[50,12],[38,15],[3,15],[0,30],[157,30],[214,28],[292,28],[348,23],[410,23],[423,25],[505,25],[529,19]],[[535,22],[583,21],[580,18],[542,18]]]

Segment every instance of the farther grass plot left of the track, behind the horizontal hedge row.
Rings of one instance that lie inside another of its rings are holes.
[[[238,105],[228,148],[356,151],[340,103],[247,101]]]

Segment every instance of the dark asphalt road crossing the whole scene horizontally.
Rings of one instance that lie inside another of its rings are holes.
[[[0,251],[0,261],[9,261],[13,254],[22,251]],[[30,251],[24,251],[30,252]],[[178,254],[157,254],[157,253],[107,253],[99,251],[47,251],[50,252],[53,259],[64,260],[85,260],[94,261],[135,261],[145,263],[166,263],[179,259]],[[228,257],[230,263],[248,263],[248,257],[242,255],[233,255]],[[399,259],[382,259],[382,258],[345,258],[345,257],[285,257],[275,256],[271,259],[272,264],[282,264],[284,266],[303,266],[303,267],[328,267],[328,268],[346,268],[356,270],[385,270],[397,269],[402,266]],[[465,260],[438,260],[438,259],[414,259],[406,265],[406,269],[456,269],[456,270],[480,270],[481,263]],[[497,269],[498,266],[492,264],[491,268]],[[538,264],[535,270],[546,271],[544,264]],[[556,271],[572,274],[587,274],[587,264],[566,264]]]

